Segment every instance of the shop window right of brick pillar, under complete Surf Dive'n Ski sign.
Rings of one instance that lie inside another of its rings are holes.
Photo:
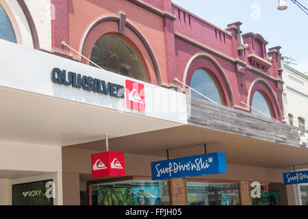
[[[238,184],[187,182],[188,205],[240,205]]]

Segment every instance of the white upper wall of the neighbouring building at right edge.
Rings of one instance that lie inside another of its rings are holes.
[[[285,82],[283,85],[283,109],[285,115],[293,114],[294,126],[296,127],[298,127],[298,117],[305,118],[306,129],[308,129],[308,97],[290,89],[294,88],[295,90],[308,95],[307,77],[303,77],[284,66],[283,81]],[[290,124],[288,119],[286,119],[286,121]]]

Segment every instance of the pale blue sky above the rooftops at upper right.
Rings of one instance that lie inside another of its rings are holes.
[[[292,68],[308,72],[308,15],[292,1],[287,10],[277,10],[278,0],[172,0],[173,3],[226,29],[229,23],[242,22],[243,34],[261,34],[267,49],[281,46],[282,55],[297,60]],[[298,0],[308,8],[308,0]]]

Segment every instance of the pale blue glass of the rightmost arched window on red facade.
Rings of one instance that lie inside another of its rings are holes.
[[[268,118],[268,116],[272,117],[270,112],[270,107],[268,106],[268,102],[264,98],[263,94],[260,92],[255,92],[253,95],[253,103],[251,104],[252,110],[251,113],[257,116],[262,116]],[[267,115],[267,116],[266,116]]]

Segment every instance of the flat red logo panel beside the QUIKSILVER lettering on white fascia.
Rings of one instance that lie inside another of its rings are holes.
[[[132,110],[145,111],[144,84],[126,80],[126,106]]]

